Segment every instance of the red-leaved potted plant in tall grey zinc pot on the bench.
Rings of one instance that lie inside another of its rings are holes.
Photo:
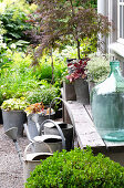
[[[71,73],[66,75],[66,79],[70,83],[74,82],[76,101],[83,104],[90,103],[89,85],[85,74],[85,66],[89,60],[90,59],[73,60],[68,64],[68,66],[71,67]]]

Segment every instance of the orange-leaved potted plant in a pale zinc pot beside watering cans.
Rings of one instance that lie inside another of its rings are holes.
[[[28,117],[28,133],[31,139],[39,135],[40,125],[45,119],[54,117],[54,111],[45,107],[42,102],[29,105],[24,112]]]

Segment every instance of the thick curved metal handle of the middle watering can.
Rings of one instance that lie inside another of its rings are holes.
[[[62,147],[63,147],[63,149],[65,149],[65,138],[64,138],[64,135],[63,135],[60,126],[59,126],[55,122],[53,122],[53,121],[51,121],[51,119],[46,119],[46,121],[44,121],[44,122],[41,124],[41,127],[43,127],[43,125],[44,125],[45,123],[49,123],[49,122],[52,123],[52,124],[54,124],[55,127],[58,128],[58,130],[59,130],[59,133],[60,133],[60,135],[61,135],[61,137],[62,137]]]

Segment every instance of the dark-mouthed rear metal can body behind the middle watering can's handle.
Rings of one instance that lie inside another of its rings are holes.
[[[65,138],[65,149],[71,150],[73,142],[73,126],[64,122],[55,122],[63,132]],[[44,124],[44,135],[60,135],[58,128],[52,123]]]

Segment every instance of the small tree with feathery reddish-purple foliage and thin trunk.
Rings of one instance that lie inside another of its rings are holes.
[[[91,0],[37,0],[39,8],[35,17],[30,19],[37,27],[33,39],[39,40],[35,56],[51,49],[61,49],[66,44],[76,44],[78,59],[81,59],[81,42],[85,38],[94,38],[108,33],[107,18],[97,14]],[[53,61],[52,61],[53,65]]]

